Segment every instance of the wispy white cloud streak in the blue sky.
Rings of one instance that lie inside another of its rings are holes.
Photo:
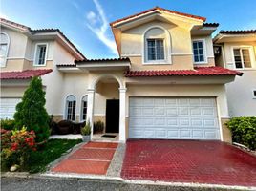
[[[87,27],[96,34],[97,38],[104,43],[112,53],[117,55],[117,46],[113,39],[111,39],[108,35],[108,20],[105,15],[105,12],[99,2],[97,0],[93,0],[96,5],[96,11],[98,15],[94,11],[90,11],[86,18],[90,24],[87,24]],[[96,27],[96,25],[99,25]]]

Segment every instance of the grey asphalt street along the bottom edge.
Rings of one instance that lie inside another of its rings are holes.
[[[175,187],[166,185],[142,185],[117,180],[82,180],[55,178],[1,178],[2,191],[208,191],[225,190],[217,188]]]

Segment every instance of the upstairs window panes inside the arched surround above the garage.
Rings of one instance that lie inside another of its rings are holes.
[[[147,59],[164,60],[164,46],[162,39],[147,39]]]

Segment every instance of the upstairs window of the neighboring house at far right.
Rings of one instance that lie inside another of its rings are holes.
[[[235,48],[233,52],[236,69],[251,68],[250,53],[248,48]]]

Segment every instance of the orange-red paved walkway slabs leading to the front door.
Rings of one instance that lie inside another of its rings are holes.
[[[53,167],[53,173],[106,175],[117,143],[89,142]]]

